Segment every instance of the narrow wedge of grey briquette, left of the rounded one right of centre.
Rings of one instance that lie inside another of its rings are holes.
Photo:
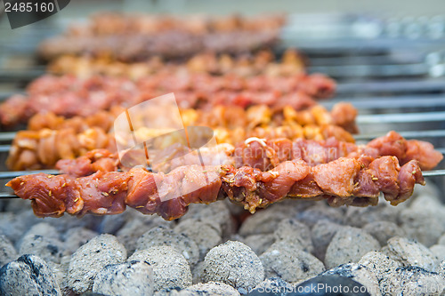
[[[342,225],[328,220],[320,220],[312,227],[311,236],[315,257],[324,262],[328,245],[341,228],[343,228]]]

